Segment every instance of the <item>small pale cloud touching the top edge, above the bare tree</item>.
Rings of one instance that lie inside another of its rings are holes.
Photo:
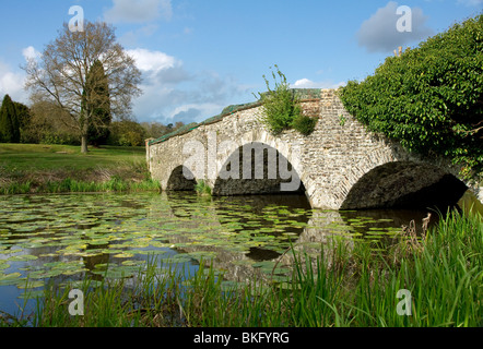
[[[170,0],[113,0],[114,7],[104,12],[104,19],[111,23],[146,23],[160,17],[173,17]]]

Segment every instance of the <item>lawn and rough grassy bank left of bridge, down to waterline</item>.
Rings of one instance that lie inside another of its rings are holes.
[[[144,147],[0,144],[0,195],[152,190]]]

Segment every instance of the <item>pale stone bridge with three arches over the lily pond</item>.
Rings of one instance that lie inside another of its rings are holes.
[[[471,186],[448,159],[409,153],[368,132],[334,89],[294,91],[315,131],[271,134],[262,106],[227,108],[219,117],[146,141],[153,179],[163,190],[193,190],[203,180],[213,195],[305,192],[314,208],[365,209],[456,204]],[[476,193],[476,188],[471,188]]]

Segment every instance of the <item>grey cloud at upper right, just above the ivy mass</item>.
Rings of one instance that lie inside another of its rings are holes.
[[[420,8],[411,8],[411,31],[398,32],[397,23],[401,15],[397,14],[397,9],[398,3],[390,1],[386,7],[378,9],[370,19],[364,21],[357,32],[358,45],[369,52],[391,52],[399,46],[424,39],[433,34],[433,31],[425,25],[427,17]]]

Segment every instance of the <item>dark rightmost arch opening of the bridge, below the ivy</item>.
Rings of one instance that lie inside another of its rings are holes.
[[[377,166],[352,185],[341,209],[427,208],[457,204],[468,186],[441,167],[416,161]]]

